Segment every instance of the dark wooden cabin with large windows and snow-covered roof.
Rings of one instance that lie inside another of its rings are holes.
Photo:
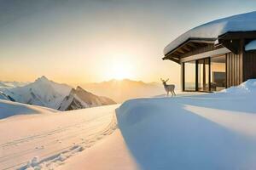
[[[256,78],[256,11],[197,26],[164,49],[183,91],[213,92]]]

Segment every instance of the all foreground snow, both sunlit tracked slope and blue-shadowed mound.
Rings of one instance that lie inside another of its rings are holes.
[[[253,79],[212,94],[12,116],[0,121],[0,169],[254,169],[255,94]]]

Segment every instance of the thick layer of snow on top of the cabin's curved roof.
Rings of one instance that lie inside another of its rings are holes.
[[[168,54],[189,38],[217,39],[219,36],[229,31],[256,31],[256,11],[213,20],[207,24],[197,26],[169,43],[166,48],[164,48],[164,54]]]

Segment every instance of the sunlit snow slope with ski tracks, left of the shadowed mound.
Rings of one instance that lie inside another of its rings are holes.
[[[113,115],[118,106],[62,114],[12,116],[1,120],[0,169],[53,169],[60,166],[70,156],[113,133],[116,127]],[[30,109],[37,108],[31,106]]]

